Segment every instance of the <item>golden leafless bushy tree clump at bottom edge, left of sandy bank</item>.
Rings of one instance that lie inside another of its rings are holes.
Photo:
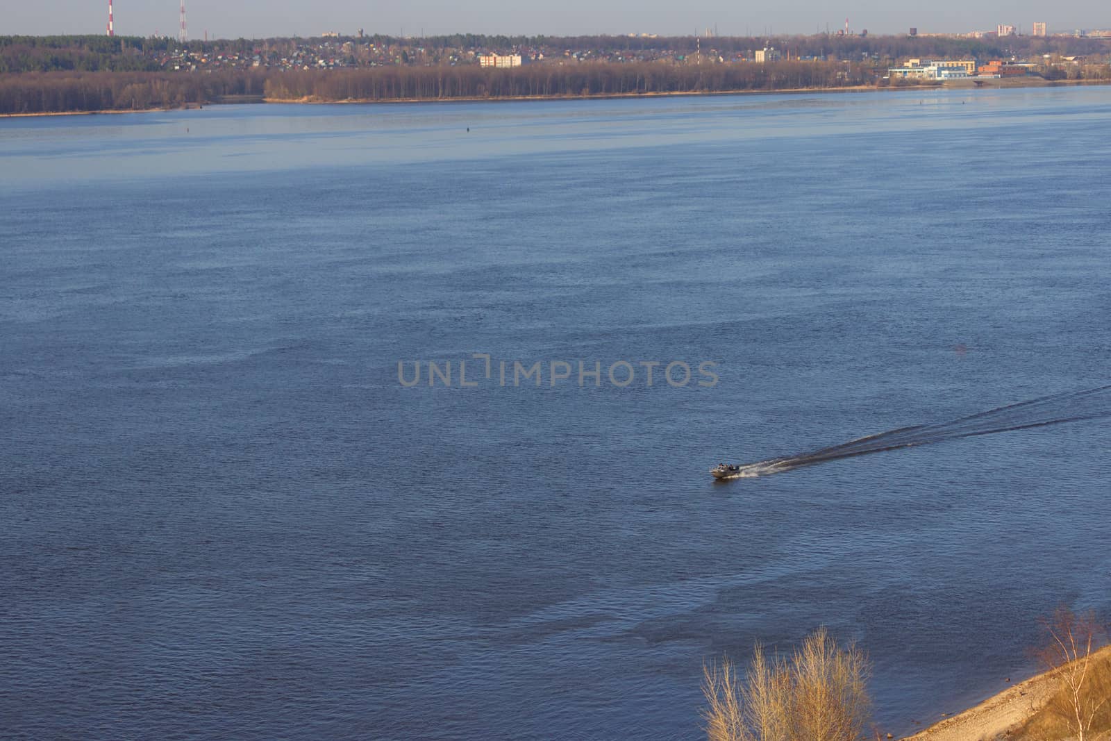
[[[703,668],[703,710],[710,741],[857,741],[870,701],[868,659],[840,648],[824,628],[789,660],[757,644],[744,681],[724,660]]]

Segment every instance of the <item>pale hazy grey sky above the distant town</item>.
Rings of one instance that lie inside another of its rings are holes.
[[[10,33],[100,33],[108,0],[0,0],[0,36]],[[120,34],[176,36],[179,0],[114,0]],[[904,33],[994,30],[1011,23],[1030,31],[1045,21],[1051,31],[1111,27],[1111,1],[1013,0],[1009,3],[935,0],[921,3],[880,0],[187,0],[189,36],[203,38],[317,36],[322,31],[418,36],[472,33],[659,33],[689,34],[718,28],[721,36],[813,33],[842,28]]]

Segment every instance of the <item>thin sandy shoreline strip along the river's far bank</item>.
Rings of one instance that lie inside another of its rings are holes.
[[[979,82],[980,84],[977,84]],[[202,109],[204,106],[230,106],[230,104],[306,104],[306,106],[328,106],[328,104],[360,104],[369,106],[377,103],[451,103],[451,102],[518,102],[518,101],[544,101],[544,100],[623,100],[630,98],[701,98],[722,96],[778,96],[778,94],[804,94],[804,93],[852,93],[869,91],[910,91],[910,90],[998,90],[1001,88],[1058,88],[1079,87],[1090,84],[1111,84],[1111,80],[1045,80],[1042,78],[1020,78],[1020,79],[987,79],[987,80],[961,80],[955,83],[938,84],[908,84],[908,86],[871,86],[857,84],[841,88],[783,88],[779,90],[712,90],[712,91],[674,91],[674,92],[624,92],[607,93],[597,96],[499,96],[478,97],[461,96],[456,98],[359,98],[343,100],[322,100],[314,97],[307,98],[266,98],[262,96],[239,96],[230,101],[206,101],[204,103],[189,103],[180,108],[142,108],[134,110],[97,110],[97,111],[43,111],[34,113],[0,113],[2,118],[37,118],[43,116],[100,116],[112,113],[159,113],[180,110]]]

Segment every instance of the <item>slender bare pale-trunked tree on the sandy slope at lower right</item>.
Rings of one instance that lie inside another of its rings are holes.
[[[1065,608],[1041,622],[1047,640],[1039,659],[1061,682],[1061,691],[1047,710],[1063,720],[1078,741],[1085,741],[1097,714],[1111,699],[1107,672],[1092,660],[1093,650],[1107,639],[1107,629],[1094,612],[1078,615]]]

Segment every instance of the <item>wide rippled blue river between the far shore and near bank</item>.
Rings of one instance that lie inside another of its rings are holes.
[[[1003,689],[1108,419],[707,469],[1108,383],[1109,162],[1111,87],[0,120],[0,735],[697,739],[822,624],[884,733]]]

